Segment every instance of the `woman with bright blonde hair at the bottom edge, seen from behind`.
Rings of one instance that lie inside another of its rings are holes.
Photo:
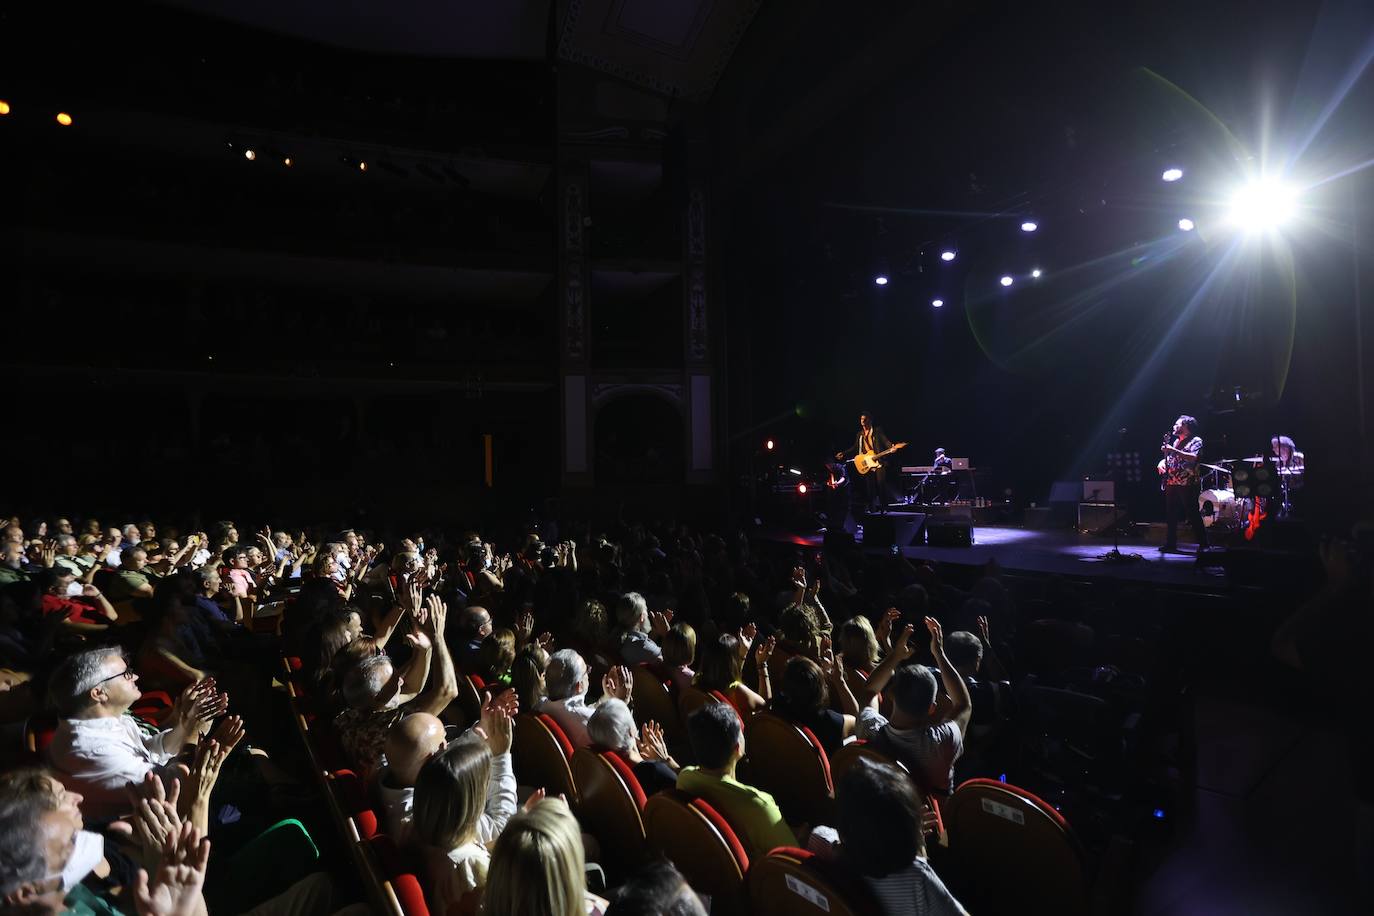
[[[563,799],[545,798],[510,820],[492,849],[482,912],[588,916],[606,906],[587,890],[583,834]]]

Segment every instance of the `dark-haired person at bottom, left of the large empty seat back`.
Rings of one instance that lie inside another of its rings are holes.
[[[883,916],[969,916],[926,861],[921,795],[900,766],[859,759],[835,786],[840,861]]]

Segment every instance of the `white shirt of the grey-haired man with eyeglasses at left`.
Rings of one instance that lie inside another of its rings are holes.
[[[179,748],[166,747],[172,729],[144,733],[131,715],[65,718],[48,747],[48,758],[62,770],[63,784],[85,795],[81,814],[103,821],[128,814],[125,786],[166,764]]]

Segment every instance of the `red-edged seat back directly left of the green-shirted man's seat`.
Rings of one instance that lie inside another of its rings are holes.
[[[644,858],[647,799],[635,772],[613,751],[578,747],[573,751],[573,781],[583,829],[600,840],[602,864],[611,878],[628,875]]]

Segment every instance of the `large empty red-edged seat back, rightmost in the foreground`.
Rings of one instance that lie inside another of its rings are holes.
[[[1028,900],[1052,901],[1059,913],[1087,912],[1083,847],[1051,805],[1015,786],[970,779],[943,813],[949,879],[970,912],[1015,912]]]

